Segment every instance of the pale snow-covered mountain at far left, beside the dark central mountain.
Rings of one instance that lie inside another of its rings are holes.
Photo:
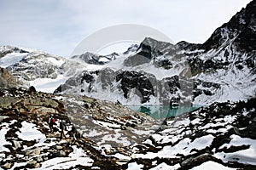
[[[48,93],[53,93],[68,77],[84,67],[79,62],[36,49],[11,46],[0,48],[0,66],[10,71],[23,86],[34,86]]]

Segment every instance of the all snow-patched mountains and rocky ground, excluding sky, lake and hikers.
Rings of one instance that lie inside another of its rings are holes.
[[[202,44],[145,37],[70,59],[0,47],[0,168],[256,169],[255,11]],[[125,105],[203,107],[157,120]]]

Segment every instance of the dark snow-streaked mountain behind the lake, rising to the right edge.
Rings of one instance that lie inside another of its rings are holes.
[[[255,1],[202,44],[147,37],[132,53],[71,77],[55,92],[123,104],[177,105],[250,99],[256,94]]]

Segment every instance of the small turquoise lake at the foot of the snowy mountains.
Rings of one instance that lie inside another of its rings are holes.
[[[193,106],[178,106],[177,108],[172,108],[165,105],[126,105],[133,111],[139,111],[153,117],[154,119],[164,119],[172,116],[179,116],[183,113],[189,111],[195,111],[201,105]]]

